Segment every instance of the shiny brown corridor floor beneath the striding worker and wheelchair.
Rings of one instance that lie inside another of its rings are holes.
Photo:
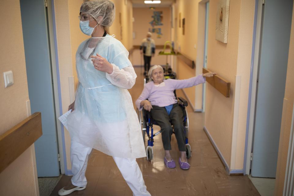
[[[135,86],[130,89],[133,101],[143,89],[143,76],[140,68],[135,68],[138,75]],[[181,90],[178,96],[183,96]],[[189,159],[191,168],[183,171],[176,161],[176,168],[168,169],[164,166],[164,149],[161,134],[155,137],[153,146],[154,159],[149,162],[146,158],[137,159],[143,173],[147,190],[152,196],[185,196],[185,195],[260,195],[248,176],[228,176],[220,162],[217,153],[203,131],[203,113],[194,113],[188,107],[190,131],[189,143],[192,157]],[[158,127],[156,127],[158,130]],[[175,136],[172,136],[172,157],[179,159],[179,151]],[[146,146],[146,144],[145,144]],[[87,188],[75,191],[70,195],[94,196],[132,196],[111,156],[93,150],[86,171]],[[71,176],[63,176],[51,195],[70,182]]]

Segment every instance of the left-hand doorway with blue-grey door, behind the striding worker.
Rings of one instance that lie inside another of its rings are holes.
[[[40,111],[42,115],[43,135],[35,142],[38,177],[60,174],[56,123],[58,104],[55,104],[58,103],[58,95],[54,89],[54,46],[49,31],[52,19],[47,6],[47,0],[20,0],[31,111]]]

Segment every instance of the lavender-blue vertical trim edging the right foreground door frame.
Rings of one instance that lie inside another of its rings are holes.
[[[246,173],[246,160],[247,160],[247,148],[248,148],[248,134],[249,134],[249,120],[250,120],[250,108],[251,108],[251,95],[252,95],[252,80],[253,80],[253,66],[254,66],[254,53],[255,53],[255,39],[256,39],[256,26],[257,26],[257,10],[258,0],[255,0],[254,10],[254,26],[252,36],[252,49],[251,49],[251,65],[250,65],[250,81],[248,91],[248,105],[247,105],[247,119],[246,119],[246,135],[245,135],[245,149],[244,149],[244,163],[243,163],[243,174]]]

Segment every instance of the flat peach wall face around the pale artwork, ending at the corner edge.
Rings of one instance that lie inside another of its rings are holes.
[[[232,89],[230,98],[226,98],[211,85],[206,85],[205,127],[230,166],[234,88],[239,44],[240,1],[230,1],[227,44],[215,40],[216,9],[217,1],[210,1],[207,68],[231,82]]]

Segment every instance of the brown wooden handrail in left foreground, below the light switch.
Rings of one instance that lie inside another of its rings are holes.
[[[41,113],[36,112],[0,136],[0,173],[42,135]]]

